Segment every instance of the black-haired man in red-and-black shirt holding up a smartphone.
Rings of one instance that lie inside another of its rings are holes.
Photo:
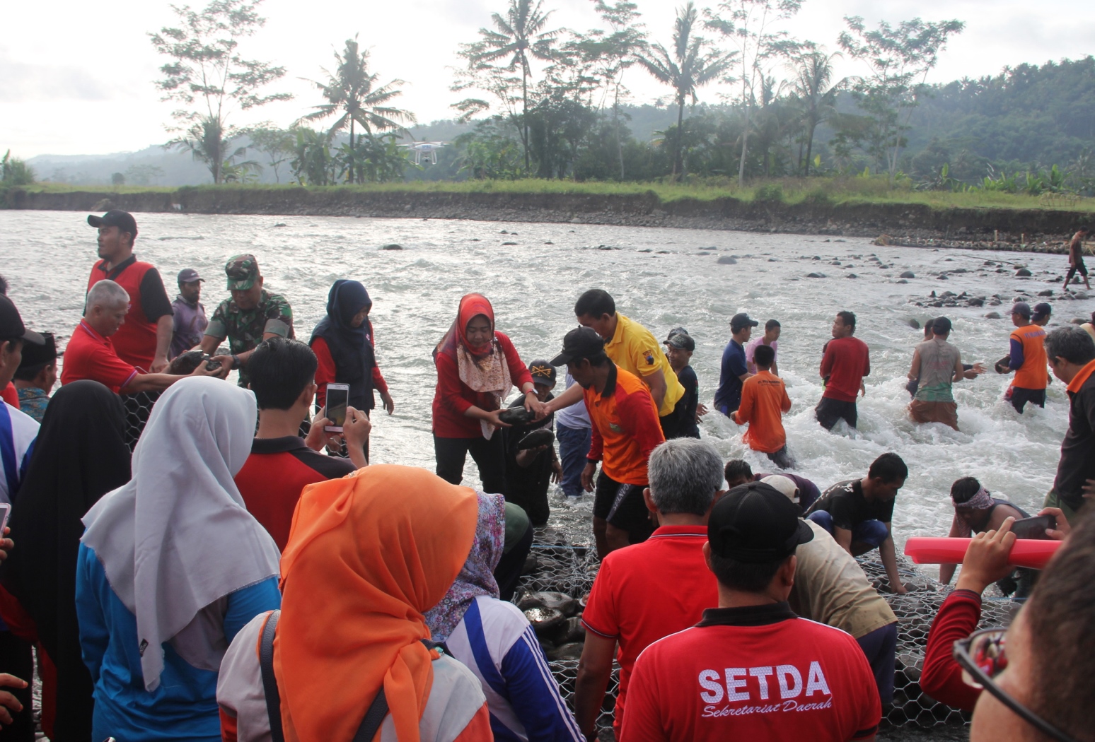
[[[343,433],[328,433],[331,421],[312,420],[308,440],[297,434],[315,396],[315,353],[306,344],[281,337],[263,340],[247,361],[250,387],[258,403],[258,431],[251,455],[235,475],[247,512],[263,524],[279,549],[289,542],[292,513],[310,484],[337,479],[367,466],[369,417],[346,408]],[[346,438],[349,461],[319,453],[330,438]]]

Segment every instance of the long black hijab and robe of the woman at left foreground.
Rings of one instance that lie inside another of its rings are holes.
[[[91,737],[92,683],[80,654],[76,617],[80,519],[129,476],[125,409],[118,395],[95,381],[58,390],[12,501],[15,547],[2,570],[4,587],[34,619],[38,640],[57,666],[58,740]]]

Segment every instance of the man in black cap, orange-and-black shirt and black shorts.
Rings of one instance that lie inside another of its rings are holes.
[[[593,491],[593,474],[601,464],[593,497],[593,538],[603,559],[614,549],[646,541],[654,530],[643,499],[646,461],[666,440],[650,390],[633,373],[609,360],[604,340],[589,327],[576,327],[563,338],[563,352],[552,366],[567,373],[585,391],[592,424],[591,443],[581,472],[581,486]]]

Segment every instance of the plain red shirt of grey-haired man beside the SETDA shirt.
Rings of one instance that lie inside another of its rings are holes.
[[[613,728],[623,723],[635,659],[661,637],[694,626],[718,605],[718,584],[703,559],[705,525],[662,525],[647,541],[612,552],[597,572],[581,623],[620,642],[620,694]]]

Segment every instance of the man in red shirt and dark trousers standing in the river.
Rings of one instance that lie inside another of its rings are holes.
[[[832,323],[832,339],[826,344],[821,358],[821,378],[825,393],[815,409],[818,422],[826,430],[832,430],[838,420],[843,419],[849,428],[858,420],[855,399],[866,393],[863,378],[871,375],[871,357],[867,344],[852,337],[855,334],[855,315],[852,312],[837,312]]]

